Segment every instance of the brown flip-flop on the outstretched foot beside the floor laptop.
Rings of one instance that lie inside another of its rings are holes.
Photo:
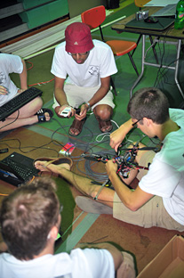
[[[47,168],[50,164],[60,165],[60,164],[67,163],[70,168],[73,165],[72,159],[69,159],[66,157],[63,157],[63,158],[38,158],[33,161],[34,167],[35,167],[36,161],[46,161],[46,163],[44,165],[42,165],[42,167],[45,168],[44,171],[46,171],[46,172],[52,172],[50,169]],[[44,171],[42,171],[42,172],[44,172]]]

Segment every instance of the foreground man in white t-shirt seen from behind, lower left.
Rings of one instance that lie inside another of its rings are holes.
[[[52,179],[37,178],[3,200],[0,224],[8,253],[0,255],[0,277],[135,278],[132,256],[108,242],[80,243],[70,254],[54,255],[62,208],[55,190]]]

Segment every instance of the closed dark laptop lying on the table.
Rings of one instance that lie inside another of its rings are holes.
[[[145,29],[145,30],[150,30],[150,31],[164,31],[164,29],[167,29],[174,23],[175,19],[172,18],[164,18],[164,17],[159,17],[157,18],[158,22],[156,23],[148,23],[145,22],[144,20],[131,20],[128,23],[126,23],[125,29]]]

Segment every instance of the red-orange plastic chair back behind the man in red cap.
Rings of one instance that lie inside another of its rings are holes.
[[[94,7],[82,12],[81,18],[83,23],[87,24],[90,29],[97,28],[106,19],[106,9],[103,5]]]

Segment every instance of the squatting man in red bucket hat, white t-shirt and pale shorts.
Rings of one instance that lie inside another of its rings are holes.
[[[110,76],[117,72],[111,48],[92,40],[90,28],[74,22],[65,30],[66,41],[57,45],[52,61],[55,76],[54,104],[56,114],[70,107],[69,117],[75,116],[70,135],[82,131],[87,110],[92,109],[101,132],[112,129],[110,118],[115,104],[110,91]],[[76,108],[80,107],[79,114]]]

